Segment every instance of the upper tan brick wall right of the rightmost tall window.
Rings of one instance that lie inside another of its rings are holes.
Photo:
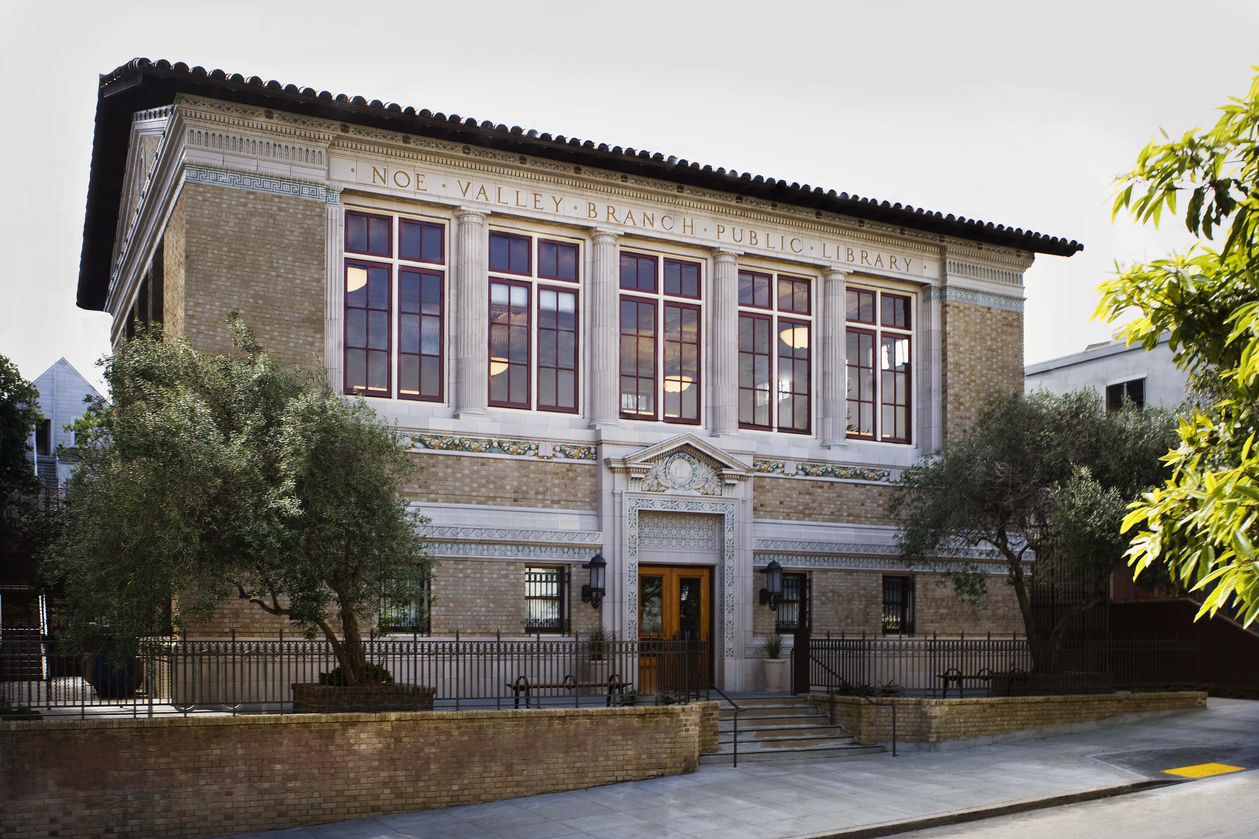
[[[1022,392],[1020,312],[946,301],[942,380],[946,445],[974,423],[993,396]]]

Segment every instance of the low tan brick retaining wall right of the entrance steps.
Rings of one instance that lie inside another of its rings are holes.
[[[810,694],[822,713],[859,743],[891,740],[891,709],[857,697]],[[939,743],[951,740],[997,737],[1016,731],[1093,722],[1129,713],[1157,713],[1206,707],[1206,693],[1105,693],[1056,697],[992,697],[978,699],[881,698],[896,706],[896,738],[903,742]]]

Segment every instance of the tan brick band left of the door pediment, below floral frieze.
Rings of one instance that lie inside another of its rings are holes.
[[[409,501],[496,507],[594,509],[597,467],[572,460],[516,460],[457,454],[417,455],[424,464]]]

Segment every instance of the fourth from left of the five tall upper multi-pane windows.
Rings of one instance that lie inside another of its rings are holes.
[[[812,283],[807,278],[739,272],[739,306],[744,309],[739,312],[742,428],[810,431],[811,294]]]

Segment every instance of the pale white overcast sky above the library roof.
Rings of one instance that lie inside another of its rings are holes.
[[[108,316],[74,306],[96,81],[136,55],[1078,239],[1027,273],[1031,364],[1109,336],[1114,260],[1185,247],[1112,226],[1112,179],[1245,92],[1259,3],[0,3],[0,353],[28,379],[101,381]]]

